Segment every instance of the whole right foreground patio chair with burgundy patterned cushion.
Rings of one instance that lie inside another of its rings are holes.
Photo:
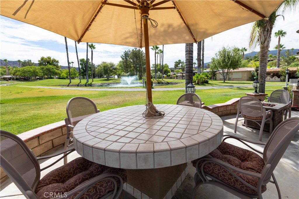
[[[199,186],[212,184],[239,198],[262,199],[266,184],[271,182],[275,184],[278,198],[281,199],[273,171],[298,132],[298,123],[298,118],[283,121],[274,129],[266,144],[245,140],[234,135],[225,135],[217,149],[193,161],[193,166],[197,171],[194,176],[196,186],[193,189],[193,198]],[[255,152],[228,144],[225,142],[228,138],[242,142],[253,151],[262,154],[263,158]],[[260,152],[245,142],[265,145],[265,147],[263,152]]]

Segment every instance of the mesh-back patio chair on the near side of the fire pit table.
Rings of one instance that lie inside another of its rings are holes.
[[[265,122],[270,122],[270,130],[269,133],[272,133],[273,129],[273,122],[272,122],[272,116],[273,112],[271,110],[266,111],[265,108],[263,108],[263,104],[255,97],[252,96],[243,96],[239,99],[238,103],[238,111],[237,111],[237,117],[235,122],[235,128],[234,132],[237,133],[237,123],[239,121],[239,116],[241,115],[245,120],[245,127],[248,127],[248,120],[254,121],[260,126],[260,135],[259,135],[259,141],[262,141],[262,135],[263,135],[263,129],[265,126]],[[241,114],[239,114],[241,112]],[[240,119],[240,120],[242,120]],[[259,124],[258,122],[261,122]]]

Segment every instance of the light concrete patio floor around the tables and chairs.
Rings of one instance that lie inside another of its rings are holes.
[[[292,117],[297,117],[299,119],[299,112],[292,111]],[[223,124],[224,124],[224,135],[225,134],[232,134],[234,133],[234,123],[236,119],[236,115],[231,116],[223,116],[221,117]],[[259,137],[259,130],[245,128],[242,126],[243,121],[239,121],[237,127],[237,135],[246,139],[258,141]],[[266,142],[269,138],[270,134],[268,132],[263,133],[263,142]],[[231,139],[232,140],[232,139]],[[228,140],[229,143],[246,148],[241,143],[236,141]],[[254,145],[256,149],[263,151],[263,147]],[[247,148],[248,149],[248,148]],[[61,147],[62,150],[62,147]],[[55,151],[57,152],[57,151]],[[54,153],[54,151],[51,151]],[[76,152],[71,153],[68,156],[68,161],[73,160],[74,158],[80,157],[79,154]],[[41,163],[41,168],[45,167],[49,163],[53,162],[54,159],[58,159],[58,157],[51,158]],[[55,166],[52,166],[45,171],[42,171],[43,177],[49,171],[62,166],[63,160],[58,162]],[[193,176],[196,173],[196,169],[192,166],[191,163],[188,163],[187,171],[189,172],[186,175],[185,180],[182,182],[181,186],[178,187],[175,195],[172,199],[186,199],[192,197],[193,188],[195,186]],[[289,145],[288,149],[286,150],[285,154],[283,155],[282,159],[278,163],[276,169],[274,170],[274,175],[276,176],[278,185],[280,187],[280,192],[282,198],[288,199],[298,199],[299,198],[299,132],[296,133],[295,137],[293,138],[291,144]],[[18,199],[18,198],[25,198],[24,195],[19,191],[19,189],[15,186],[14,183],[10,179],[1,183],[0,187],[0,198],[10,198],[10,199]],[[126,198],[135,199],[134,196],[126,193]],[[203,185],[200,186],[196,191],[196,198],[238,198],[223,189],[220,189],[216,186],[212,185]],[[263,198],[278,198],[277,191],[275,185],[272,183],[267,184],[267,190],[263,193]],[[167,198],[168,199],[168,198]]]

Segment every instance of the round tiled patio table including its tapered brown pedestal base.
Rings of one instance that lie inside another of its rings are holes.
[[[84,158],[128,169],[125,189],[136,189],[136,198],[171,198],[186,163],[216,149],[223,138],[223,122],[210,111],[156,107],[165,112],[163,118],[143,118],[144,105],[122,107],[91,115],[73,131],[75,149]]]

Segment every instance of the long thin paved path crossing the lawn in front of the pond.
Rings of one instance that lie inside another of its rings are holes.
[[[72,87],[42,87],[42,86],[22,86],[30,88],[51,88],[51,89],[62,89],[62,90],[93,90],[93,91],[145,91],[145,88],[72,88]],[[237,88],[237,87],[252,87],[252,85],[244,86],[209,86],[209,87],[195,87],[199,89],[220,89],[220,88]],[[185,90],[185,88],[153,88],[153,91],[161,90]]]

